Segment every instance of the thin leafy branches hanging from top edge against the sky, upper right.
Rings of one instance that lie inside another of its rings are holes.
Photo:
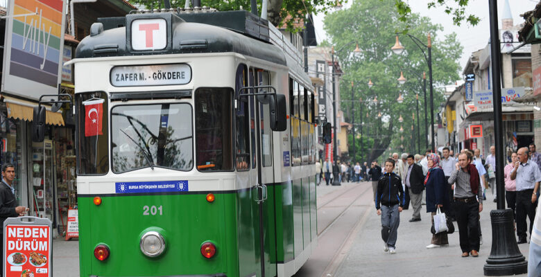
[[[469,1],[470,0],[454,0],[454,3],[449,4],[449,1],[446,0],[435,0],[429,1],[427,6],[428,8],[436,8],[438,6],[445,7],[445,13],[447,13],[447,15],[452,15],[453,23],[456,26],[461,26],[463,21],[466,21],[472,26],[476,26],[479,24],[481,19],[475,15],[466,15],[465,12],[467,3]],[[395,0],[395,7],[399,15],[398,19],[404,23],[407,23],[409,21],[409,17],[411,17],[411,8],[409,7],[409,3],[404,2],[404,0]]]

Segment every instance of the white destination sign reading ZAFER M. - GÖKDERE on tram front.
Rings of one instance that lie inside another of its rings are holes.
[[[110,80],[114,87],[187,84],[191,81],[191,68],[187,64],[114,66]]]

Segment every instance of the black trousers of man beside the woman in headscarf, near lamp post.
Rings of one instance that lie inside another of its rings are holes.
[[[479,202],[454,202],[462,252],[479,251]]]

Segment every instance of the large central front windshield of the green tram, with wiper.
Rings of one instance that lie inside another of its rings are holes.
[[[191,170],[191,106],[187,103],[119,105],[111,110],[112,170]]]

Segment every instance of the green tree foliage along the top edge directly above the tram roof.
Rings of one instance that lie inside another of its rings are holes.
[[[128,0],[146,8],[160,8],[161,0]],[[169,0],[171,7],[184,7],[186,0]],[[327,13],[336,6],[341,6],[343,0],[268,0],[267,16],[274,26],[286,24],[288,30],[298,32],[302,30],[296,23],[306,18],[307,15],[319,12]],[[216,8],[220,11],[226,10],[250,10],[250,0],[202,0],[202,6]],[[261,0],[257,0],[257,10],[261,12]]]

